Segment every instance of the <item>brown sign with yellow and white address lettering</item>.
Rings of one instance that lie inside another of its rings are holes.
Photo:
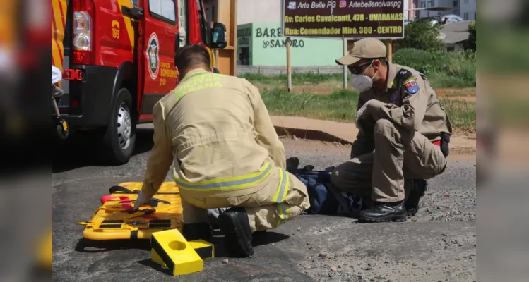
[[[404,37],[404,0],[283,0],[286,37]]]

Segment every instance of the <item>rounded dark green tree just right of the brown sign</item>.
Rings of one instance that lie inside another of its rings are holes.
[[[414,48],[424,51],[439,51],[446,48],[446,44],[439,39],[439,25],[432,25],[429,21],[412,21],[405,26],[404,38],[395,41],[396,49]]]

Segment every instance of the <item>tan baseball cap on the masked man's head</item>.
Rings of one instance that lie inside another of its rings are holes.
[[[338,65],[349,66],[361,59],[386,58],[386,45],[379,39],[360,39],[352,46],[347,56],[336,59]]]

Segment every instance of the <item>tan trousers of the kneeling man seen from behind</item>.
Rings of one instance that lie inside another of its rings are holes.
[[[261,188],[256,192],[240,195],[238,191],[239,196],[234,197],[230,197],[229,192],[222,197],[208,197],[208,192],[181,189],[184,223],[208,221],[207,209],[244,207],[251,231],[263,231],[280,226],[310,207],[307,187],[283,168],[273,168],[271,174],[258,185]]]

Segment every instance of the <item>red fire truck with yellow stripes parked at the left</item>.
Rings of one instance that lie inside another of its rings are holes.
[[[95,137],[114,164],[129,161],[136,125],[177,85],[174,54],[226,47],[202,0],[52,0],[53,63],[63,72],[59,112],[73,134]]]

